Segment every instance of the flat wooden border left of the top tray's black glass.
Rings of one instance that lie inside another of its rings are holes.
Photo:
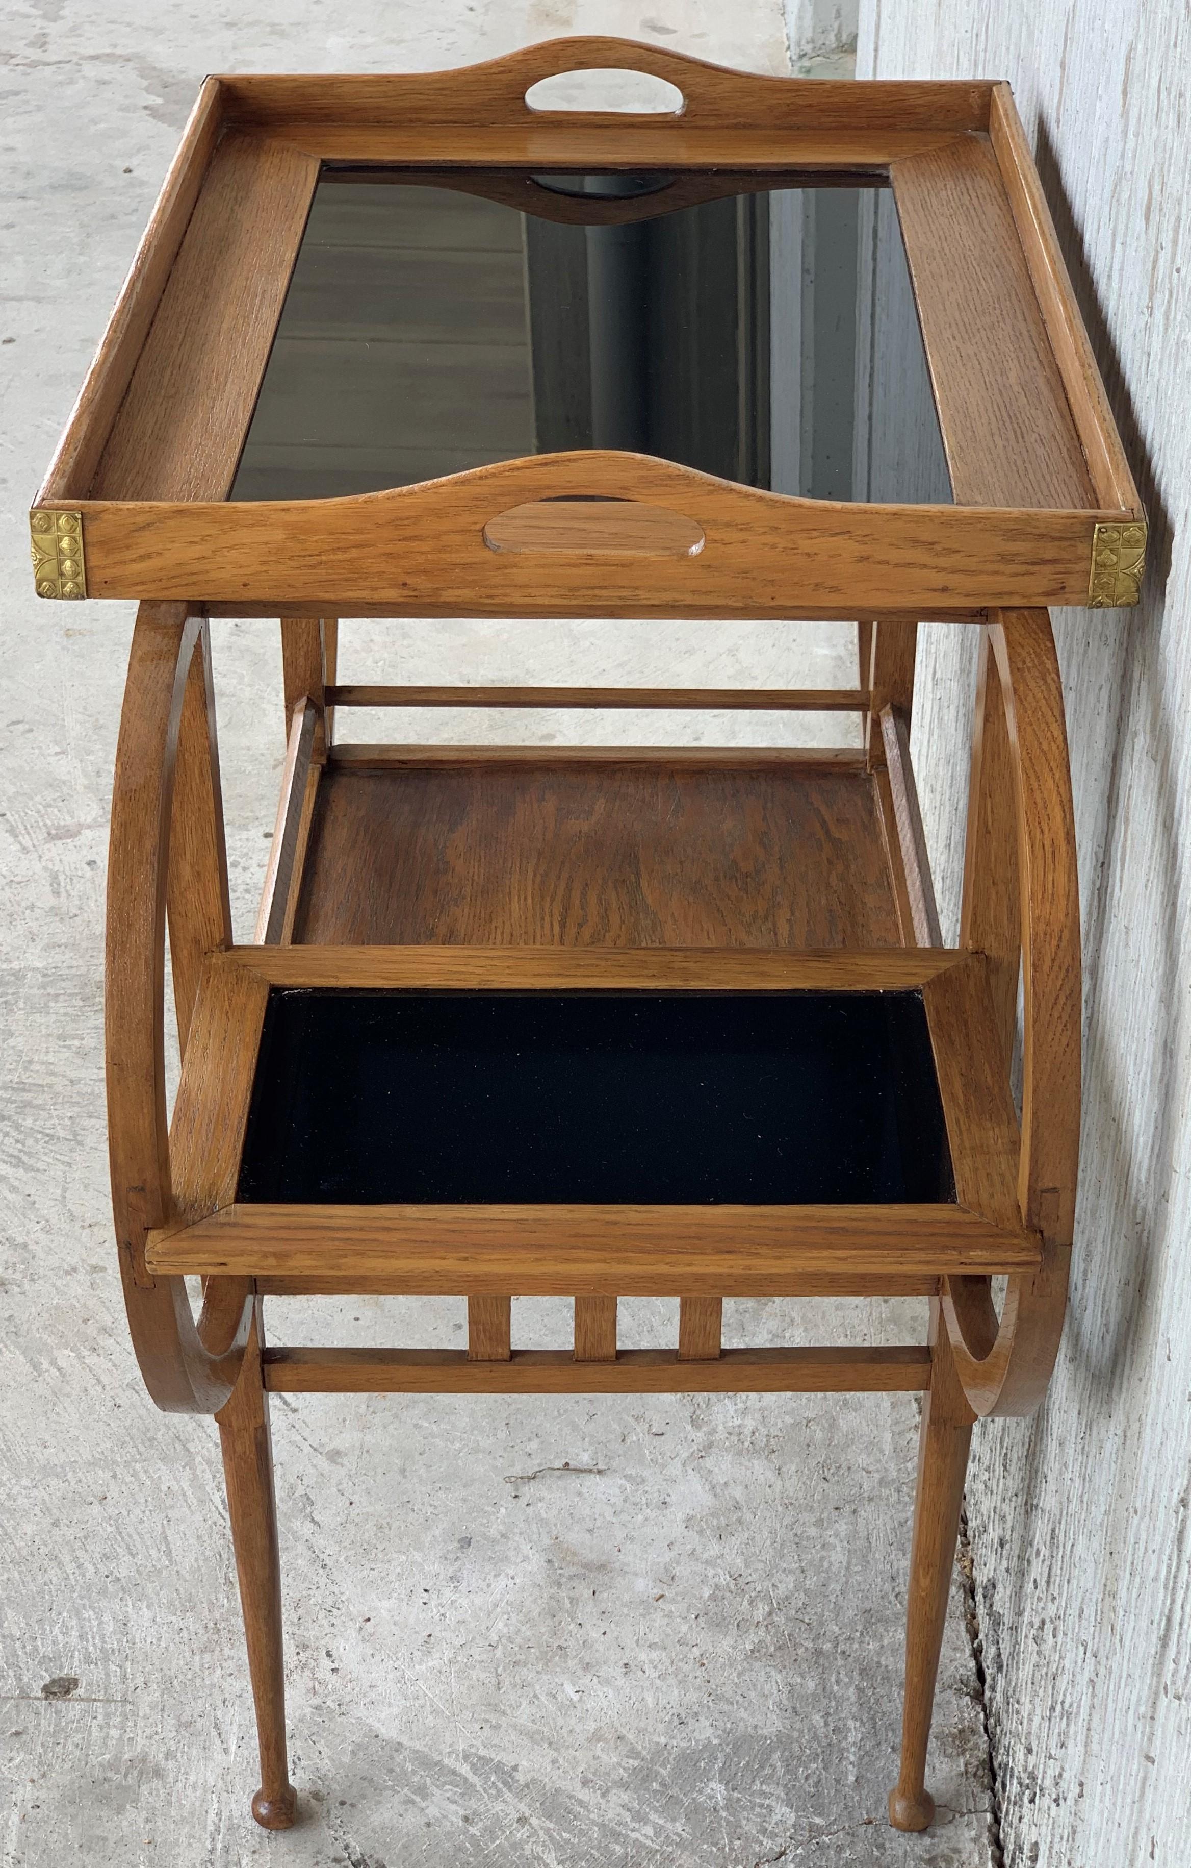
[[[315,179],[317,161],[284,142],[239,134],[220,142],[91,499],[224,499]]]

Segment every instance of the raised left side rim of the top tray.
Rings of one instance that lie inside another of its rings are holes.
[[[121,286],[116,310],[37,493],[37,504],[43,501],[71,504],[86,497],[95,480],[99,456],[133,381],[136,359],[144,349],[170,267],[194,213],[218,140],[220,110],[222,86],[218,78],[205,78],[129,276]]]

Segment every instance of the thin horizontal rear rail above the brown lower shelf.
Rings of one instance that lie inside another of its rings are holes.
[[[864,687],[366,687],[327,689],[327,706],[724,708],[862,714]]]

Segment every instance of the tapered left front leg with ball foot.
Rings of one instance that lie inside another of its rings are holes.
[[[261,1377],[261,1313],[231,1399],[215,1416],[224,1448],[228,1515],[235,1545],[239,1597],[248,1638],[248,1672],[261,1752],[261,1788],[252,1814],[263,1829],[289,1829],[295,1791],[286,1756],[286,1674],[282,1663],[282,1571],[273,1493],[269,1395]]]

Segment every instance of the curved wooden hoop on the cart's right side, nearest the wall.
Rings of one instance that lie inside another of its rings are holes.
[[[980,665],[961,945],[989,955],[1008,1068],[1023,986],[1025,1224],[1042,1265],[1010,1278],[1001,1319],[988,1278],[945,1280],[943,1313],[976,1414],[1029,1414],[1051,1379],[1079,1168],[1079,884],[1062,684],[1047,611],[1001,611]]]

